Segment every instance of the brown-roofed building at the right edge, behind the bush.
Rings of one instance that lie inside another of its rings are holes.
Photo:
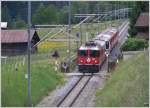
[[[135,27],[138,31],[138,38],[149,40],[149,13],[141,13],[136,21]]]

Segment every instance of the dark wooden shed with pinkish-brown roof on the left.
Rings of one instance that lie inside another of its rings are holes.
[[[31,30],[31,47],[40,38],[35,30]],[[1,30],[1,54],[2,56],[15,56],[27,53],[28,31],[27,30]],[[31,52],[37,52],[37,47],[32,48]]]

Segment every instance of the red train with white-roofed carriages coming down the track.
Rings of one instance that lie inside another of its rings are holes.
[[[118,42],[118,30],[116,28],[107,29],[78,49],[77,64],[80,72],[94,73],[100,70],[106,59],[106,42],[109,42],[109,50],[112,51]]]

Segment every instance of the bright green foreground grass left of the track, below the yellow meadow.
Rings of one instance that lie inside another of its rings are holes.
[[[16,63],[18,70],[15,69]],[[2,62],[2,106],[27,106],[27,66],[22,60],[11,59]],[[64,83],[63,75],[55,72],[49,63],[31,65],[31,96],[33,106],[42,97]]]

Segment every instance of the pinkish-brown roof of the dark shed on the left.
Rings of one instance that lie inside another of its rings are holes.
[[[31,38],[35,30],[31,30]],[[1,30],[2,43],[23,43],[28,42],[28,30]]]

